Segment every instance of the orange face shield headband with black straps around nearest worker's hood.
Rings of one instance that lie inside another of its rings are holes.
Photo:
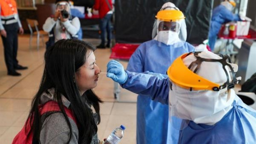
[[[172,65],[168,68],[167,75],[172,80],[173,83],[179,85],[182,88],[192,90],[210,90],[210,91],[219,91],[220,89],[234,88],[235,84],[238,84],[241,81],[241,77],[235,77],[238,66],[236,64],[232,64],[230,58],[227,55],[222,55],[219,53],[215,53],[219,55],[222,59],[204,59],[200,57],[198,54],[200,52],[190,52],[181,55],[176,60],[173,61]],[[196,61],[193,61],[188,68],[184,65],[183,59],[190,54],[194,54],[196,57]],[[200,65],[203,61],[207,62],[220,62],[222,64],[222,68],[225,71],[227,76],[227,81],[220,85],[213,83],[202,76],[196,74],[196,71],[200,68]],[[191,67],[196,66],[194,71],[191,71]],[[228,67],[228,70],[225,68]],[[229,75],[230,74],[230,75]],[[231,82],[230,82],[231,81]]]

